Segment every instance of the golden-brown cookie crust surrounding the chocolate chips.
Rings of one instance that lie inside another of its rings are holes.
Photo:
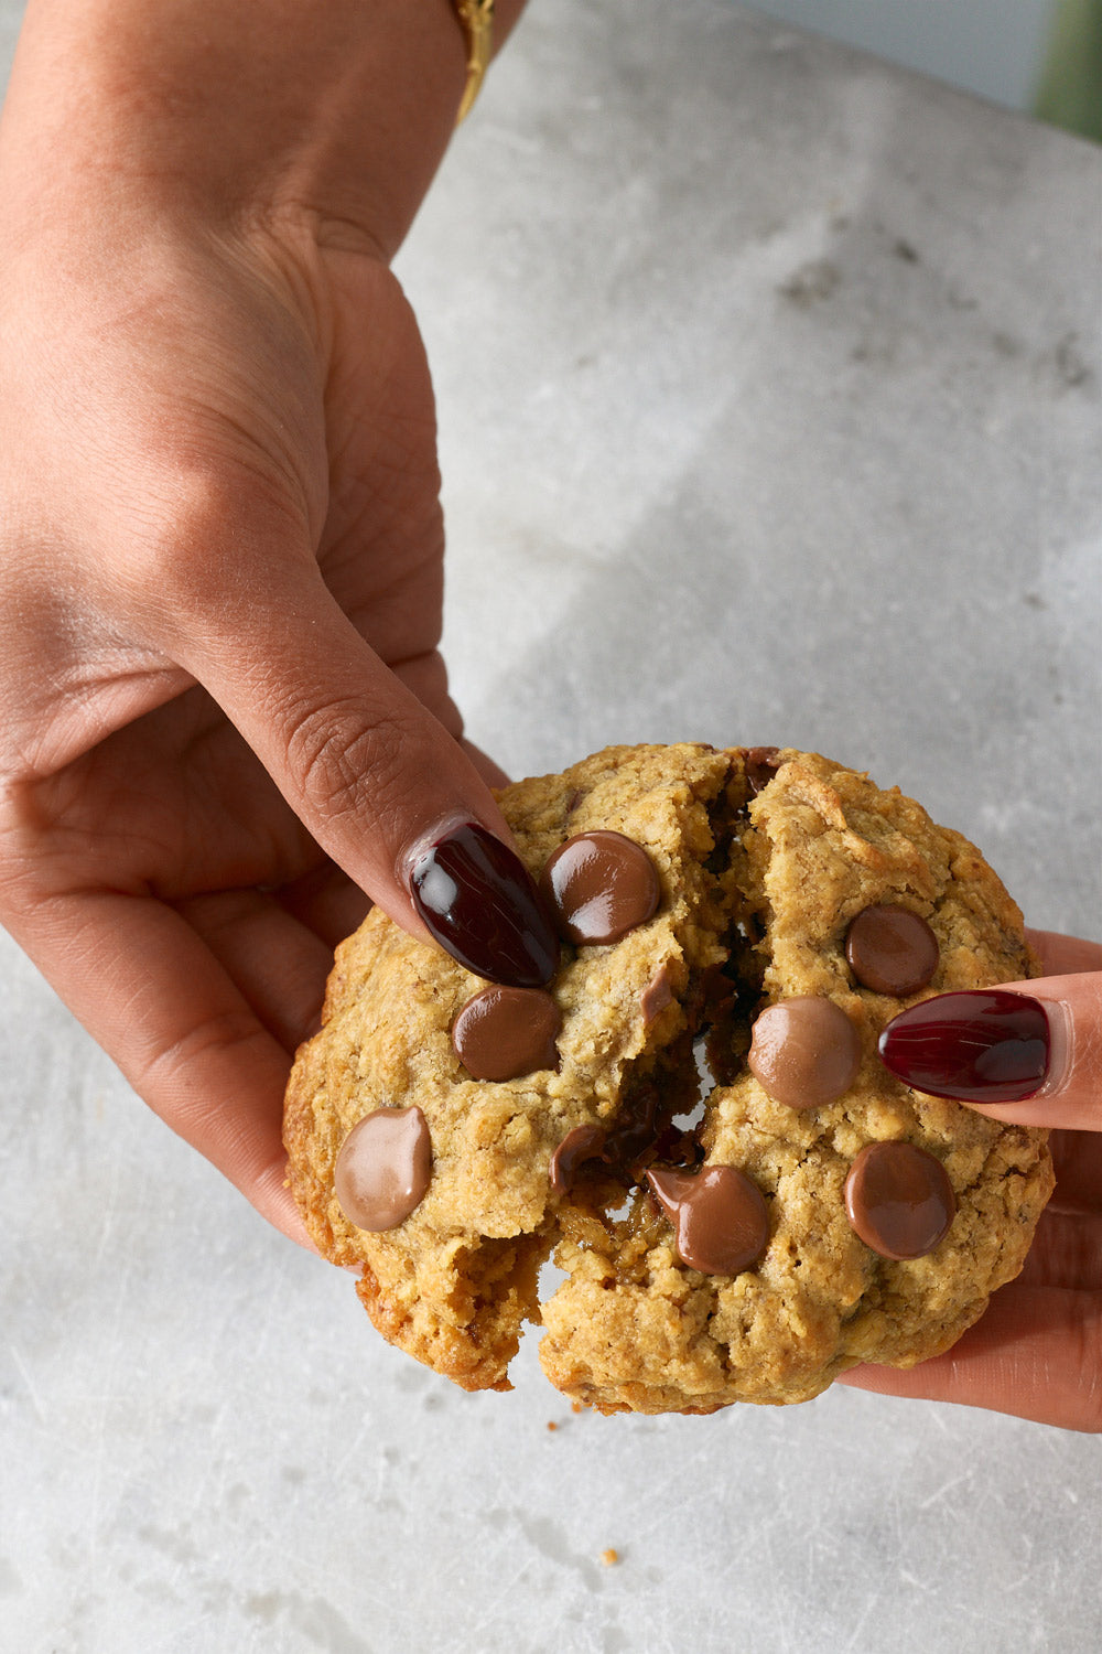
[[[507,1388],[558,1242],[567,1279],[542,1307],[540,1360],[601,1411],[800,1401],[856,1361],[905,1366],[948,1348],[1021,1269],[1051,1191],[1044,1133],[912,1093],[876,1055],[904,1004],[1029,974],[1021,915],[978,852],[899,791],[795,751],[748,809],[742,751],[702,746],[611,748],[509,787],[502,809],[534,875],[572,834],[625,832],[651,853],[663,903],[611,946],[567,949],[552,984],[560,1068],[504,1083],[471,1080],[451,1049],[477,978],[378,911],[339,949],[322,1032],[287,1090],[289,1176],[321,1250],[362,1267],[383,1336],[464,1388]],[[910,999],[861,987],[844,959],[851,918],[879,901],[938,938],[938,973]],[[722,1279],[677,1259],[641,1193],[616,1219],[628,1196],[606,1171],[560,1196],[549,1166],[573,1126],[608,1128],[646,1087],[669,1108],[684,1095],[689,1040],[712,1016],[704,989],[714,1001],[732,939],[742,992],[734,1014],[714,1011],[722,1083],[702,1143],[709,1163],[758,1184],[772,1236],[753,1269]],[[743,1057],[752,1011],[801,994],[846,1011],[862,1062],[836,1103],[795,1111]],[[363,1113],[410,1103],[430,1125],[433,1181],[398,1229],[367,1234],[335,1201],[335,1156]],[[933,1153],[958,1201],[945,1240],[909,1262],[871,1252],[843,1202],[854,1154],[894,1138]]]

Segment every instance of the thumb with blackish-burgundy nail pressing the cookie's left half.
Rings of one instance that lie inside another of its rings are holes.
[[[238,607],[188,653],[299,820],[372,901],[477,976],[550,981],[558,941],[489,787],[316,566],[281,569],[278,602]]]

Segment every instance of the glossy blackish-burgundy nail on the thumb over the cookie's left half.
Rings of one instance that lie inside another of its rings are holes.
[[[489,982],[542,987],[558,938],[519,855],[477,822],[449,827],[410,870],[413,906],[439,946]]]

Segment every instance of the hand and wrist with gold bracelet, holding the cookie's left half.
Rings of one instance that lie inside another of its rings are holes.
[[[433,397],[387,268],[463,41],[421,0],[334,0],[330,36],[309,8],[302,41],[263,13],[28,10],[0,134],[0,918],[304,1240],[281,1100],[332,944],[367,896],[454,944],[411,867],[454,820],[506,827],[436,647]],[[367,119],[329,127],[357,81]],[[524,901],[509,870],[481,895]]]

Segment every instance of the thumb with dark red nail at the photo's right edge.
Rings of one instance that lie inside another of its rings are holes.
[[[1013,1125],[1102,1131],[1102,946],[1031,939],[1071,974],[925,999],[887,1024],[881,1059],[914,1090]]]

